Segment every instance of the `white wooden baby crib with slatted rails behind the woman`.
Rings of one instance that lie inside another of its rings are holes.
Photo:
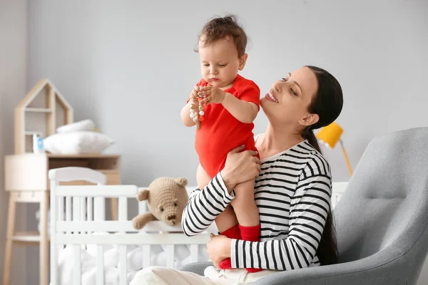
[[[106,176],[83,167],[63,167],[49,171],[51,180],[51,285],[59,285],[58,254],[64,245],[73,247],[73,284],[81,284],[81,247],[96,244],[96,284],[104,283],[103,247],[117,245],[119,251],[120,284],[128,284],[127,246],[138,245],[143,250],[142,267],[151,265],[151,246],[165,247],[166,266],[174,268],[174,247],[190,245],[191,261],[198,260],[199,245],[206,244],[209,232],[216,232],[213,225],[205,233],[186,237],[181,226],[169,227],[163,222],[150,222],[141,231],[133,229],[128,218],[128,198],[136,199],[136,185],[104,185]],[[59,185],[60,182],[84,180],[95,185]],[[189,187],[188,192],[194,190]],[[105,218],[105,199],[118,198],[118,221]],[[146,212],[146,203],[138,202],[138,212]],[[111,232],[114,234],[95,234]]]

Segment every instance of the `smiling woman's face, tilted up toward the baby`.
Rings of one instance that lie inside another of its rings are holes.
[[[299,68],[272,83],[260,105],[271,125],[302,125],[310,115],[308,107],[317,88],[317,77],[310,68]]]

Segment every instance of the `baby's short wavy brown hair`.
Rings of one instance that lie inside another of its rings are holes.
[[[202,36],[203,40],[201,39]],[[243,56],[247,47],[247,35],[243,27],[236,21],[235,15],[218,17],[208,21],[198,36],[198,43],[203,41],[203,46],[209,46],[226,37],[230,37],[235,43],[238,56]],[[195,52],[198,51],[198,46],[196,46]]]

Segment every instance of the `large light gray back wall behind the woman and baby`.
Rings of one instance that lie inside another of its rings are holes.
[[[305,64],[337,77],[345,93],[337,122],[352,167],[374,135],[428,125],[422,0],[32,0],[27,88],[50,78],[76,120],[90,118],[116,140],[108,152],[123,155],[123,182],[183,176],[194,185],[194,130],[179,113],[200,78],[196,36],[210,17],[228,12],[250,38],[241,74],[263,93]],[[263,132],[263,113],[255,123]],[[340,148],[325,155],[334,180],[348,180]]]

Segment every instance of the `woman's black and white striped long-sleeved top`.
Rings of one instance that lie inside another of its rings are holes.
[[[235,192],[216,175],[186,205],[182,227],[188,236],[207,229]],[[260,212],[260,242],[232,239],[233,268],[290,270],[320,265],[317,247],[330,209],[330,165],[307,140],[262,160],[255,181]]]

